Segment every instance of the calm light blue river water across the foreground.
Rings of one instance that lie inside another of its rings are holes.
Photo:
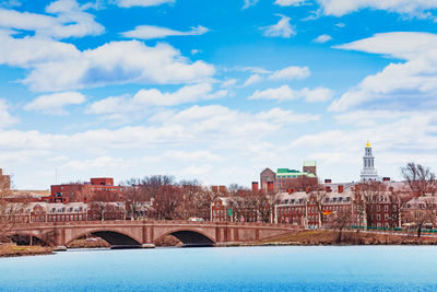
[[[71,250],[1,258],[0,291],[437,291],[437,247]]]

